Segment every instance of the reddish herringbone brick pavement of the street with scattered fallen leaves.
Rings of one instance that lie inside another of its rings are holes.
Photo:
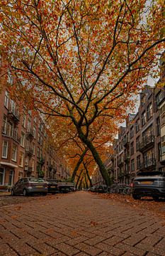
[[[0,208],[0,255],[163,255],[164,219],[85,191]]]

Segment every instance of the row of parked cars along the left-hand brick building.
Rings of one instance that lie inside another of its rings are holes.
[[[47,193],[67,193],[74,191],[74,183],[57,181],[55,179],[25,177],[20,178],[11,188],[11,195],[28,196],[32,194],[47,195]]]

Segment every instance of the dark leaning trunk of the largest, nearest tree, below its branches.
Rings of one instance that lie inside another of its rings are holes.
[[[86,138],[86,136],[84,135],[84,133],[81,131],[79,127],[77,128],[77,131],[79,132],[79,138],[81,139],[81,141],[84,142],[84,144],[88,146],[88,148],[91,150],[91,154],[93,155],[93,158],[95,159],[96,164],[98,164],[98,168],[101,172],[101,176],[103,177],[103,180],[105,181],[107,186],[110,186],[112,183],[111,178],[108,174],[106,167],[103,164],[103,161],[101,160],[101,157],[98,154],[98,151],[93,146],[92,142]]]

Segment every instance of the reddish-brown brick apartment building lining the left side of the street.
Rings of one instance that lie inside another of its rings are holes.
[[[1,74],[3,70],[0,65]],[[55,142],[42,118],[27,107],[20,114],[5,86],[13,78],[9,71],[4,74],[0,92],[0,189],[12,186],[23,176],[69,178],[67,164],[57,156]]]

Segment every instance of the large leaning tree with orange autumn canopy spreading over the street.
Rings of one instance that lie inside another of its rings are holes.
[[[149,3],[148,3],[149,2]],[[72,122],[106,183],[91,140],[104,117],[120,118],[164,48],[163,0],[2,0],[1,44],[16,72],[12,90]],[[25,93],[23,93],[25,92]],[[26,98],[27,100],[27,98]]]

